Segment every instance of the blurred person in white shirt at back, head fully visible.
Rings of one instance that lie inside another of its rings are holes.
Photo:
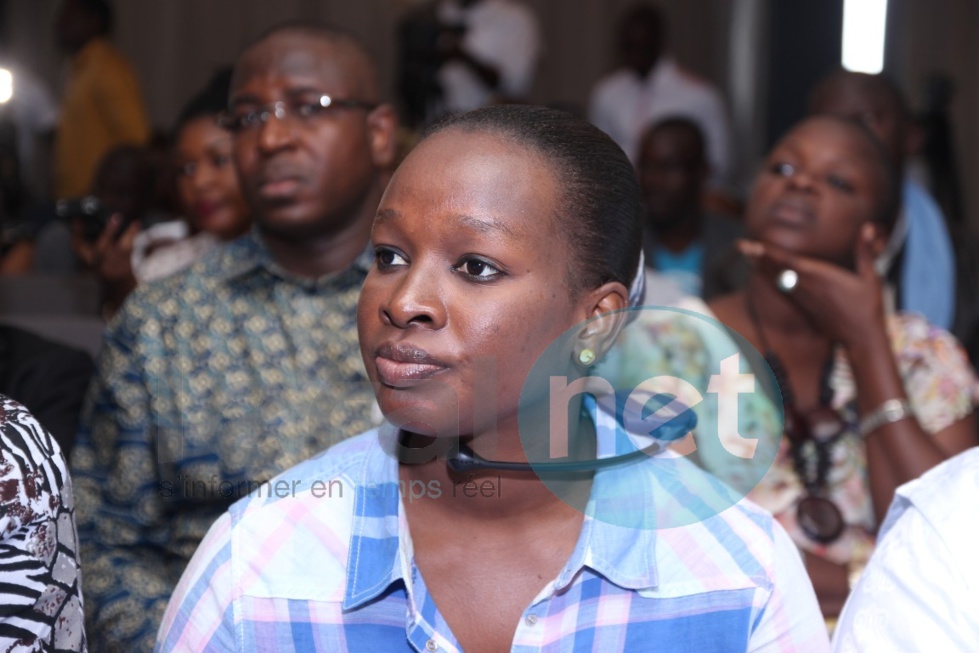
[[[704,132],[711,182],[730,173],[731,135],[716,88],[680,68],[666,52],[666,23],[655,7],[640,4],[623,14],[618,28],[621,66],[592,91],[589,119],[635,163],[639,137],[659,120],[682,116]]]

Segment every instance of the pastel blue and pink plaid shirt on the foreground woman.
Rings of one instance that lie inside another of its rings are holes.
[[[396,437],[384,426],[338,444],[232,506],[178,584],[157,650],[461,650],[415,567],[402,503],[455,488],[399,488]],[[699,504],[685,494],[699,486],[663,482],[658,458],[595,475],[574,553],[511,650],[828,650],[799,554],[770,515],[742,502],[655,528]]]

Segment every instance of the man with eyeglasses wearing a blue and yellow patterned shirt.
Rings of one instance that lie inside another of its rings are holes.
[[[214,519],[304,490],[265,482],[372,422],[356,305],[396,127],[373,63],[338,30],[273,29],[238,59],[221,124],[256,227],[130,297],[83,415],[93,650],[150,650]]]

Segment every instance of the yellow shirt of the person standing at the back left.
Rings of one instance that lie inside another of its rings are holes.
[[[61,102],[55,143],[55,194],[89,192],[102,156],[149,140],[150,123],[132,66],[109,41],[96,38],[75,55]]]

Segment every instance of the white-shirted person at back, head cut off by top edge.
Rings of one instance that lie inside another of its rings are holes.
[[[444,0],[439,68],[444,109],[470,111],[525,99],[541,49],[537,17],[513,0]]]

